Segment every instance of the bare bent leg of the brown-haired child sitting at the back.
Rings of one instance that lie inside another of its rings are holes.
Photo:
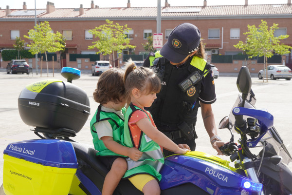
[[[102,195],[113,194],[121,178],[125,175],[127,168],[127,162],[124,158],[117,158],[113,161],[110,172],[107,174],[102,187]]]

